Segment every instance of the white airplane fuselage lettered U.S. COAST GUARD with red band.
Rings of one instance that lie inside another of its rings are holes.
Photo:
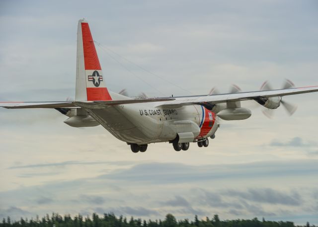
[[[174,140],[194,142],[212,136],[218,117],[200,105],[164,108],[159,103],[138,103],[92,109],[89,114],[119,140],[149,144]]]

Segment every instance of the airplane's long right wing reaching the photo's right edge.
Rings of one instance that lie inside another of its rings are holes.
[[[317,92],[318,86],[310,87],[297,87],[297,88],[287,88],[279,90],[266,90],[266,91],[249,91],[249,92],[239,92],[239,93],[228,93],[228,94],[214,94],[214,95],[199,95],[199,96],[186,96],[186,97],[176,97],[173,101],[168,101],[160,103],[158,106],[173,106],[173,105],[192,105],[192,104],[217,104],[225,102],[236,102],[244,100],[254,100],[257,98],[270,98],[275,96],[285,96],[293,94],[302,94]]]

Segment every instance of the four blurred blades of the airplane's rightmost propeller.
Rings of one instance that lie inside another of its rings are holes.
[[[290,89],[295,87],[295,84],[290,81],[289,79],[285,79],[282,89]],[[268,81],[265,81],[260,90],[272,90],[272,86],[270,85],[270,83]],[[285,108],[286,112],[288,113],[288,115],[293,115],[295,113],[295,111],[297,110],[297,106],[295,104],[292,104],[290,102],[287,102],[285,100],[281,100],[280,103],[283,105],[283,107]],[[273,118],[274,115],[274,109],[264,109],[262,110],[262,113],[268,117],[268,118]]]

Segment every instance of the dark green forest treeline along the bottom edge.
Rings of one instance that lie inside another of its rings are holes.
[[[116,217],[114,214],[104,214],[98,216],[93,214],[92,217],[83,217],[77,215],[74,218],[71,215],[64,215],[53,213],[50,217],[46,215],[42,219],[38,216],[36,219],[20,219],[19,221],[11,221],[10,217],[3,218],[0,227],[315,227],[307,223],[304,226],[295,226],[293,222],[273,222],[262,221],[254,218],[252,220],[220,220],[218,215],[214,215],[209,219],[199,220],[198,216],[194,217],[193,221],[188,219],[177,221],[176,218],[167,214],[164,220],[142,220],[127,218],[120,216]]]

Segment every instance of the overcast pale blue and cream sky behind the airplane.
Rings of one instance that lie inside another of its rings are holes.
[[[318,85],[316,0],[1,0],[1,101],[75,97],[83,17],[115,92],[205,94],[232,83],[250,91],[285,78]],[[318,94],[285,100],[298,105],[292,117],[279,108],[269,120],[247,103],[251,118],[223,121],[208,148],[180,152],[163,143],[132,153],[101,126],[69,127],[58,111],[0,109],[0,218],[219,214],[318,225]]]

